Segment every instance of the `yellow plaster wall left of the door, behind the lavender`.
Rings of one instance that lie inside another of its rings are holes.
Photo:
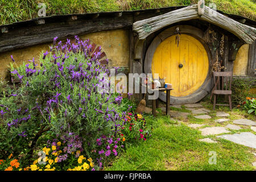
[[[101,46],[102,51],[108,57],[110,67],[129,67],[129,34],[127,30],[117,29],[109,31],[99,31],[79,36],[80,39],[90,39],[97,46]],[[65,40],[62,40],[65,42]],[[39,55],[42,52],[49,51],[51,43],[39,44],[36,46],[15,49],[0,53],[0,78],[6,78],[10,63],[10,55],[13,55],[17,65],[27,62],[35,57],[38,63]]]

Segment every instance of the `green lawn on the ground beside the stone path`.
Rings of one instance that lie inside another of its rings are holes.
[[[202,104],[209,106],[208,103]],[[226,111],[226,108],[221,107],[220,110]],[[226,112],[230,113],[230,119],[236,119],[234,115],[240,117],[247,115],[237,109]],[[199,139],[207,137],[203,137],[199,130],[186,125],[186,122],[189,122],[204,123],[205,127],[221,126],[213,121],[217,118],[216,111],[211,113],[213,118],[207,121],[196,119],[191,115],[180,125],[177,125],[175,119],[161,114],[156,118],[151,115],[146,116],[147,125],[154,129],[152,137],[147,141],[127,147],[106,170],[253,170],[251,163],[256,158],[252,152],[256,150],[228,140],[218,139],[214,135],[210,135],[209,138],[217,140],[218,143],[200,142]],[[251,119],[256,120],[253,115]],[[245,131],[254,133],[249,127],[240,130],[240,132]],[[232,133],[238,133],[238,131],[232,131]],[[210,151],[217,154],[216,165],[208,162]]]

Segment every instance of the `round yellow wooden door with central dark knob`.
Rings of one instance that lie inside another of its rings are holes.
[[[170,36],[156,48],[152,60],[152,73],[166,78],[174,90],[171,96],[183,97],[203,85],[208,75],[209,61],[203,44],[192,36],[181,34],[179,47],[176,36]]]

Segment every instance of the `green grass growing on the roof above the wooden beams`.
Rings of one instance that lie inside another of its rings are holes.
[[[38,3],[45,3],[47,16],[82,14],[102,11],[152,9],[167,6],[188,6],[197,0],[0,0],[0,25],[38,17]],[[253,0],[206,0],[216,3],[217,9],[229,14],[256,19],[256,4]]]

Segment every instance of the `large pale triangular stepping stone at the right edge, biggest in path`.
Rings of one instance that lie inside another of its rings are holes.
[[[233,134],[233,135],[221,135],[217,136],[217,138],[222,138],[229,140],[234,143],[242,144],[243,146],[256,148],[256,135],[250,132],[243,132],[240,134]]]

